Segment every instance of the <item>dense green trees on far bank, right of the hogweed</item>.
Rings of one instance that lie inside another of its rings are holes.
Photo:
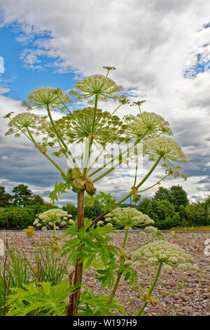
[[[152,198],[141,199],[137,209],[155,220],[159,229],[210,225],[210,197],[190,203],[180,185],[159,187]]]

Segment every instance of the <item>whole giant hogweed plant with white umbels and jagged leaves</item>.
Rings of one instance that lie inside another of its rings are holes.
[[[126,314],[123,306],[115,299],[118,285],[123,277],[124,280],[130,282],[130,285],[135,286],[137,284],[136,268],[149,267],[151,268],[150,286],[146,293],[141,294],[143,305],[136,313],[143,315],[148,303],[155,305],[156,300],[152,293],[161,270],[193,268],[190,256],[179,247],[165,242],[160,232],[151,226],[153,220],[137,209],[120,208],[120,204],[127,198],[132,196],[134,201],[137,201],[142,191],[160,184],[167,176],[179,176],[182,167],[176,163],[185,162],[186,157],[181,147],[169,138],[172,136],[169,123],[158,114],[142,112],[141,105],[145,101],[132,103],[131,106],[137,107],[137,115],[128,114],[123,119],[117,116],[117,111],[130,102],[122,93],[123,87],[118,86],[108,77],[109,72],[115,68],[104,67],[104,69],[106,75],[94,75],[78,81],[68,94],[59,88],[38,88],[29,93],[27,100],[22,103],[27,108],[27,112],[14,117],[13,113],[5,116],[10,120],[6,134],[14,133],[16,137],[24,135],[29,138],[43,157],[47,158],[61,174],[62,181],[56,182],[55,190],[50,193],[52,202],[58,199],[59,194],[69,190],[77,194],[77,219],[69,222],[61,252],[71,265],[68,282],[69,301],[66,307],[66,315],[69,316],[111,315],[113,309]],[[83,110],[72,110],[71,98],[87,101],[88,106]],[[99,101],[107,100],[117,103],[113,112],[99,109]],[[45,110],[47,115],[38,116],[30,112],[31,110],[35,112],[36,109]],[[63,112],[64,116],[54,120],[52,111]],[[113,143],[118,145],[119,150],[114,156],[107,151],[107,145]],[[78,151],[78,146],[81,144],[83,144],[81,153],[75,154],[74,150]],[[122,151],[122,145],[124,151]],[[143,153],[139,152],[141,150],[138,148],[139,145],[143,145]],[[57,160],[55,160],[56,157]],[[67,171],[60,166],[60,157],[66,157],[68,160]],[[99,157],[104,157],[103,165],[97,165]],[[139,178],[138,166],[141,157],[148,157],[152,166],[144,177]],[[130,159],[135,161],[136,171],[134,183],[126,196],[116,202],[111,194],[104,194],[104,192],[96,194],[96,183],[123,162],[127,164]],[[83,165],[79,166],[78,162]],[[151,187],[142,187],[160,164],[164,172],[162,178]],[[185,178],[184,175],[182,176]],[[84,200],[91,203],[94,198],[100,199],[104,204],[104,213],[94,220],[85,219]],[[105,224],[102,221],[104,217]],[[36,220],[37,223],[38,220]],[[111,244],[110,235],[119,227],[125,229],[121,247]],[[145,227],[146,232],[152,233],[152,237],[145,244],[128,251],[126,244],[129,230]],[[54,233],[56,236],[55,226]],[[87,290],[83,284],[83,270],[92,268],[96,270],[96,278],[101,282],[102,287],[110,288],[109,296],[95,296],[94,292]],[[158,268],[154,279],[153,268]],[[44,284],[42,285],[45,287]],[[31,287],[25,289],[29,292],[32,290]],[[13,301],[11,308],[16,310],[12,314],[18,315],[18,308],[20,308],[20,315],[24,304],[15,305],[15,297],[17,297],[16,301],[18,297],[19,301],[21,300],[18,293],[11,299]],[[29,308],[28,305],[27,308]]]

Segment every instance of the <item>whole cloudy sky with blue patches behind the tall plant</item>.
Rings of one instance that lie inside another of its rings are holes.
[[[111,78],[131,101],[146,100],[142,110],[169,121],[188,158],[183,168],[188,180],[167,178],[162,186],[181,185],[191,202],[210,194],[209,1],[0,0],[0,41],[0,185],[6,192],[24,183],[48,201],[61,178],[25,138],[4,136],[3,115],[24,112],[21,101],[38,87],[68,91],[83,77],[104,74],[102,67],[109,65],[117,68]],[[100,107],[111,111],[113,104]],[[118,115],[127,113],[137,112],[125,106]],[[67,168],[65,160],[61,164]],[[143,161],[140,175],[147,169]],[[145,187],[161,176],[159,167]],[[97,191],[119,199],[129,185],[132,172],[116,169],[99,181]],[[70,192],[59,204],[75,201]]]

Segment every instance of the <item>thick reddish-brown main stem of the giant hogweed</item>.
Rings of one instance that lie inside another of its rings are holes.
[[[78,192],[78,208],[77,208],[77,223],[78,229],[84,226],[84,193],[85,190]],[[77,286],[82,283],[83,279],[83,262],[80,258],[76,260],[76,267],[73,277],[73,285]],[[76,316],[78,313],[78,304],[80,301],[80,287],[74,291],[69,297],[69,306],[67,308],[67,316]]]

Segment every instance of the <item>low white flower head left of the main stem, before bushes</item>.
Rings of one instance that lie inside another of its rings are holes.
[[[38,214],[38,218],[34,221],[36,227],[41,227],[42,230],[47,229],[59,229],[59,227],[65,227],[66,225],[72,225],[73,220],[71,214],[61,209],[51,209]]]

